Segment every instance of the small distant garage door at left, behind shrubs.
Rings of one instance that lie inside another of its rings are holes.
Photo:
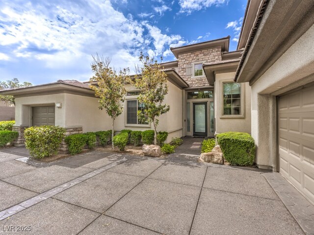
[[[54,125],[54,106],[33,107],[33,126]]]

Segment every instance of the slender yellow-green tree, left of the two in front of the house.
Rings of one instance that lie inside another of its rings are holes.
[[[112,119],[111,140],[113,140],[114,120],[123,110],[123,102],[127,92],[124,86],[128,81],[129,69],[117,72],[109,66],[110,62],[109,57],[99,57],[98,54],[93,56],[91,67],[94,76],[90,78],[90,82],[92,84],[97,82],[97,84],[90,85],[90,88],[95,91],[95,96],[100,98],[99,108],[101,110],[105,109]],[[112,148],[114,148],[113,141]]]

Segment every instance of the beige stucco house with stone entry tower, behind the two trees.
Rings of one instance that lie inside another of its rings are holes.
[[[242,50],[229,52],[230,37],[171,48],[176,61],[162,63],[168,76],[165,102],[170,111],[159,118],[158,131],[173,137],[214,137],[225,131],[251,132],[251,92],[248,83],[233,79]],[[137,118],[141,105],[137,91],[126,86],[124,112],[115,129],[147,130],[150,123]],[[69,133],[111,129],[111,119],[99,110],[88,82],[59,80],[27,88],[7,90],[16,98],[16,144],[24,144],[23,130],[33,125],[58,125]]]

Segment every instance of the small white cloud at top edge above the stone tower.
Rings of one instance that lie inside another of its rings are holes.
[[[210,6],[219,6],[227,4],[229,0],[179,0],[180,13],[191,14],[193,11],[199,11]]]

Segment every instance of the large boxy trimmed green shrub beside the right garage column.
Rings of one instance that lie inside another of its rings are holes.
[[[217,135],[224,158],[232,165],[252,165],[255,158],[255,142],[243,132],[226,132]]]

